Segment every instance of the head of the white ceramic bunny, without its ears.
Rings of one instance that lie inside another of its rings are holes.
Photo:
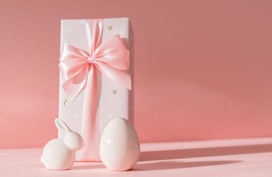
[[[80,150],[84,147],[82,137],[75,131],[70,131],[65,134],[65,145],[71,150]]]

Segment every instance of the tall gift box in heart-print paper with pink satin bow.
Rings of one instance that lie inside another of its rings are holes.
[[[59,118],[85,147],[76,161],[100,161],[106,125],[133,124],[133,32],[128,18],[61,20]],[[58,137],[64,134],[59,131]]]

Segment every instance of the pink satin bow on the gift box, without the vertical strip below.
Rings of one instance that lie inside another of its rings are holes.
[[[85,24],[86,29],[91,29],[91,27],[87,27],[87,24],[90,23]],[[100,29],[100,25],[92,26],[98,26]],[[92,31],[97,31],[97,29]],[[92,31],[87,31],[87,34],[91,34]],[[90,35],[89,39],[92,38],[96,39],[95,43],[92,42],[92,45],[96,46],[99,37],[95,38]],[[89,63],[94,63],[102,73],[131,90],[131,86],[129,86],[131,81],[127,79],[130,76],[122,71],[129,69],[129,51],[126,49],[122,38],[119,35],[114,35],[97,46],[97,48],[91,47],[90,51],[92,49],[95,50],[91,54],[65,43],[61,50],[59,68],[65,80],[62,87],[64,92],[70,97],[70,100],[75,100],[75,97],[85,89],[87,81],[86,70],[88,70]]]

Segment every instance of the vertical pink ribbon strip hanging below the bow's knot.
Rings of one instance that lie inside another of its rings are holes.
[[[86,86],[81,135],[85,147],[81,151],[81,161],[99,159],[99,116],[98,116],[98,94],[97,81],[94,65],[90,65],[88,82]]]

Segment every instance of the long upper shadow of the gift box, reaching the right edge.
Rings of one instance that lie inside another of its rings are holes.
[[[272,144],[141,152],[139,161],[272,152]]]

